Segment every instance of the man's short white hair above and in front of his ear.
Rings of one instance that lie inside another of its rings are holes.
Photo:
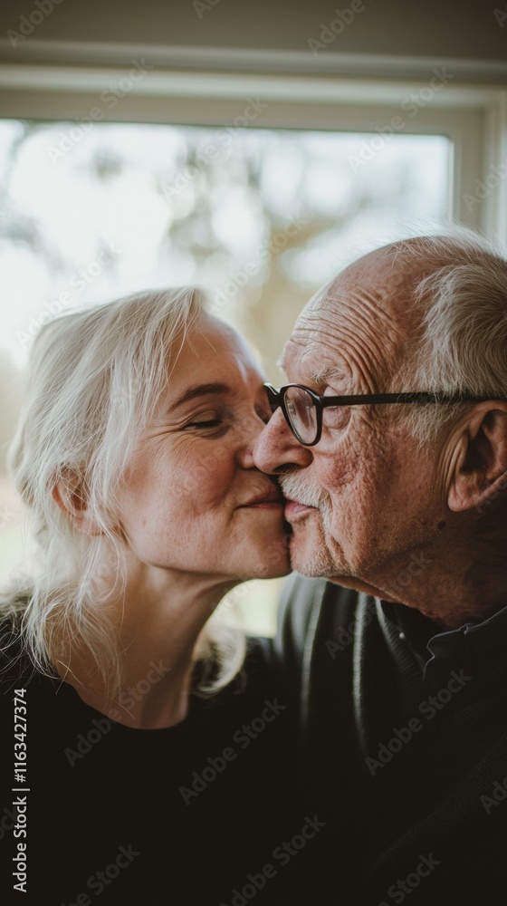
[[[424,306],[414,354],[398,373],[404,390],[507,399],[507,256],[466,227],[391,246],[423,274],[407,304]],[[412,433],[435,439],[467,404],[408,407]],[[470,404],[468,404],[470,405]]]

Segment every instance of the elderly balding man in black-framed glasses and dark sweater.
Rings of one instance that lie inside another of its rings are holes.
[[[254,459],[324,577],[280,636],[315,902],[507,902],[507,259],[460,230],[366,255],[283,369]]]

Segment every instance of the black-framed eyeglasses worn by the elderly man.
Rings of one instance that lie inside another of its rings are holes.
[[[276,390],[272,384],[264,384],[270,409],[279,407],[296,440],[305,447],[314,447],[322,434],[322,412],[328,406],[362,406],[365,403],[458,403],[483,402],[489,397],[473,397],[465,394],[448,393],[363,393],[355,396],[320,396],[303,384],[285,384]]]

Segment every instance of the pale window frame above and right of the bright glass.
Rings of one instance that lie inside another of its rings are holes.
[[[150,67],[143,57],[130,63],[145,72],[110,106],[101,100],[103,92],[112,96],[110,86],[129,79],[132,66],[2,65],[0,116],[79,125],[99,108],[102,122],[234,128],[234,122],[245,119],[242,111],[249,101],[258,99],[265,108],[241,128],[376,133],[401,117],[399,134],[445,135],[453,143],[449,215],[507,244],[507,179],[494,176],[503,162],[507,173],[507,91],[502,88],[450,81],[429,101],[416,104],[410,117],[405,115],[410,96],[427,96],[437,67],[428,70],[425,82],[177,72]]]

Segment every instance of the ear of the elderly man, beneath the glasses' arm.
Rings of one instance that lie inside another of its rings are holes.
[[[447,503],[455,513],[507,494],[507,402],[474,406],[459,439]]]

